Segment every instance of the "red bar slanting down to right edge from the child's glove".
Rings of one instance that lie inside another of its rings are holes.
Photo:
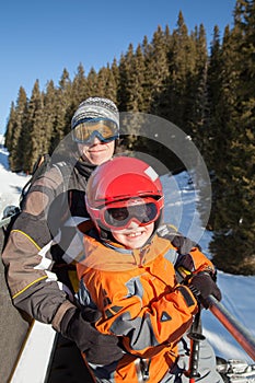
[[[215,297],[207,299],[210,312],[221,322],[228,332],[255,361],[255,338]]]

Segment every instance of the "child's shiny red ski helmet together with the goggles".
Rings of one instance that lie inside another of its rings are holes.
[[[129,156],[116,156],[96,167],[88,182],[85,201],[100,233],[123,229],[130,220],[141,225],[155,222],[157,229],[164,206],[157,172]]]

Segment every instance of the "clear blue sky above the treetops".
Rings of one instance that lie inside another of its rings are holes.
[[[182,10],[190,32],[204,24],[208,44],[213,26],[232,26],[235,0],[12,0],[0,12],[0,134],[5,130],[11,102],[20,86],[28,97],[39,80],[57,85],[63,68],[70,79],[81,62],[85,74],[112,63],[136,48],[144,35],[151,40],[158,25],[176,27]]]

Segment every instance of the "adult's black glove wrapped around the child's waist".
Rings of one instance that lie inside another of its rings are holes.
[[[85,353],[89,362],[109,364],[119,360],[124,351],[118,346],[118,338],[116,336],[103,335],[90,323],[95,322],[100,316],[101,313],[97,310],[73,307],[65,314],[60,329],[62,336],[73,340],[78,348]]]

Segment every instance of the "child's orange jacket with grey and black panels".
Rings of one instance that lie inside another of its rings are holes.
[[[174,266],[188,257],[190,271],[198,272],[213,270],[211,262],[198,247],[181,255],[170,240],[158,234],[141,249],[84,235],[84,254],[77,264],[80,302],[101,310],[96,328],[119,336],[127,351],[114,382],[124,376],[138,382],[141,359],[150,361],[150,382],[160,382],[176,360],[177,341],[197,312],[196,299],[177,282]]]

